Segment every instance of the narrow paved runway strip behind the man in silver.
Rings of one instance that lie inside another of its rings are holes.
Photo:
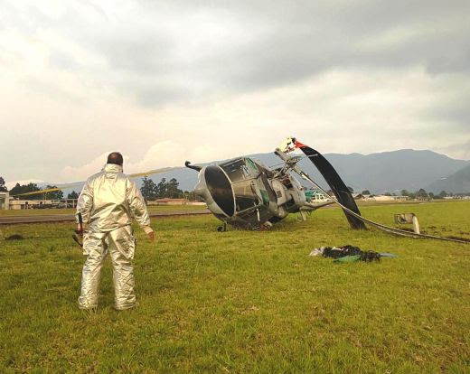
[[[211,211],[204,210],[174,210],[174,211],[152,211],[150,217],[174,217],[210,214]],[[43,216],[9,216],[0,217],[0,225],[11,225],[15,223],[44,223],[44,222],[67,222],[75,220],[72,214],[48,214]]]

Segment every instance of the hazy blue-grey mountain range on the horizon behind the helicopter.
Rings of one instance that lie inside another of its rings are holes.
[[[251,154],[250,156],[258,158],[267,166],[281,163],[274,153]],[[470,191],[465,187],[468,185],[465,184],[465,181],[468,182],[468,179],[465,179],[465,175],[468,174],[465,173],[468,173],[467,167],[470,166],[470,161],[452,159],[447,155],[432,151],[401,149],[378,154],[324,154],[324,156],[333,164],[346,185],[353,187],[355,192],[363,190],[369,190],[372,193],[400,192],[402,189],[414,192],[420,188],[433,192],[442,190],[465,192],[459,190],[461,185],[462,188],[466,188],[466,191]],[[197,160],[191,161],[197,162]],[[299,164],[315,181],[327,188],[320,173],[316,171],[315,166],[309,160],[304,159]],[[457,173],[459,171],[462,171],[463,174]],[[456,174],[455,177],[454,174]],[[153,175],[152,179],[154,182],[159,182],[162,178],[166,178],[166,180],[176,178],[183,191],[193,191],[197,175],[198,173],[195,171],[182,167],[171,172]],[[443,180],[443,178],[447,178],[447,180]],[[458,191],[454,187],[452,189],[450,187],[441,188],[440,184],[436,184],[441,181],[455,183]],[[136,179],[136,182],[140,187],[141,178]],[[65,195],[71,190],[64,191]],[[80,191],[80,188],[75,188],[75,190]]]

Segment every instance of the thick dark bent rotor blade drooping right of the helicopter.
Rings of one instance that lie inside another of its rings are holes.
[[[353,199],[353,195],[346,187],[339,174],[336,173],[332,164],[330,164],[322,154],[315,151],[315,149],[310,148],[308,145],[303,145],[296,141],[296,146],[300,148],[300,150],[310,159],[318,171],[323,175],[324,180],[332,189],[336,200],[348,208],[348,210],[353,210],[353,212],[361,216],[361,211],[359,211],[356,201]],[[365,229],[365,225],[362,220],[358,220],[357,217],[354,217],[348,210],[343,209],[343,212],[351,227],[353,229]]]

